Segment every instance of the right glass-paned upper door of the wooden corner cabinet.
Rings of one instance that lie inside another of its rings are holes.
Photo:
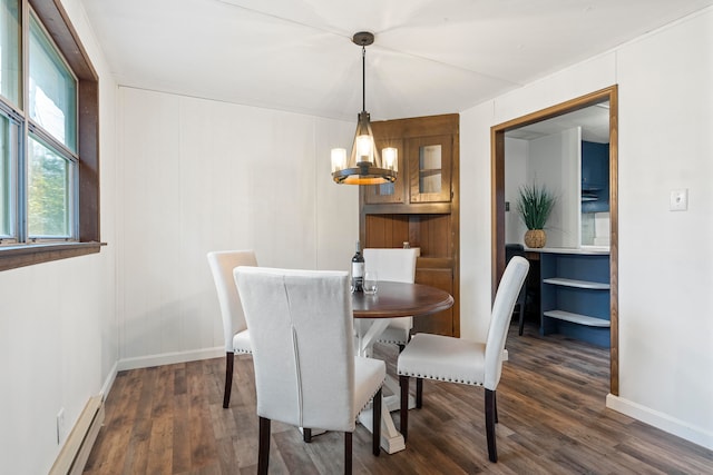
[[[451,198],[452,136],[418,137],[407,146],[411,202],[447,202]]]

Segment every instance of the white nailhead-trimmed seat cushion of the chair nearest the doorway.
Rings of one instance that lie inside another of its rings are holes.
[[[399,355],[398,373],[481,386],[485,380],[482,343],[449,336],[417,334]]]

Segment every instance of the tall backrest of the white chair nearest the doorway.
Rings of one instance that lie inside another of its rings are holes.
[[[502,279],[492,304],[490,327],[486,340],[486,360],[484,386],[495,390],[500,382],[502,372],[502,350],[508,336],[510,317],[515,308],[517,296],[527,277],[530,264],[520,256],[514,256],[505,268]]]

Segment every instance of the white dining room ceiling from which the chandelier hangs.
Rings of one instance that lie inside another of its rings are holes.
[[[119,85],[356,120],[459,112],[713,0],[82,0]]]

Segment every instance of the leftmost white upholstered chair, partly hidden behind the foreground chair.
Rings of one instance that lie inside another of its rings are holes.
[[[215,289],[221,304],[223,317],[223,335],[225,337],[225,392],[223,407],[231,404],[233,386],[233,364],[235,354],[252,353],[247,324],[243,315],[243,306],[237,295],[233,269],[238,266],[257,266],[255,253],[252,250],[218,250],[208,253],[208,264],[215,280]]]

